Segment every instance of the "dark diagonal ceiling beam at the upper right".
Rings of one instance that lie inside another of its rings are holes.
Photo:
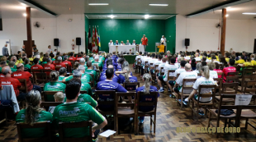
[[[220,4],[216,4],[212,7],[207,7],[201,11],[196,11],[191,14],[188,14],[187,18],[191,18],[193,16],[200,16],[200,15],[206,14],[210,11],[216,11],[216,10],[223,9],[225,7],[232,7],[232,6],[235,6],[235,5],[244,3],[244,2],[250,2],[250,1],[253,1],[253,0],[231,0],[231,1],[227,1],[227,2],[221,2]]]

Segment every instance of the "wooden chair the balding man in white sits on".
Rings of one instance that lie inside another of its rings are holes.
[[[183,98],[187,98],[189,94],[184,94],[184,89],[192,89],[193,90],[193,85],[192,86],[185,86],[186,82],[193,82],[193,84],[196,82],[197,79],[183,79],[183,89],[181,93],[176,93],[178,96],[176,98],[181,98],[181,101],[177,100],[177,104],[180,103],[181,109],[183,110]]]

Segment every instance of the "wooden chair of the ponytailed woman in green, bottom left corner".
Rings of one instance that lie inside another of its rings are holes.
[[[44,121],[44,122],[36,122],[33,126],[25,123],[19,123],[17,122],[17,133],[18,138],[20,142],[45,142],[45,141],[51,141],[51,130],[50,130],[50,121]],[[34,128],[45,128],[45,136],[39,137],[39,138],[23,138],[22,137],[22,129],[34,129]]]

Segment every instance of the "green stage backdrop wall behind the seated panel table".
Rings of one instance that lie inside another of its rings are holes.
[[[108,43],[112,39],[115,43],[119,43],[129,39],[130,43],[133,39],[136,44],[140,44],[143,34],[149,39],[149,46],[146,51],[154,52],[154,45],[160,42],[161,36],[165,35],[168,40],[168,50],[175,51],[176,25],[175,16],[168,20],[139,20],[139,19],[87,19],[85,30],[90,25],[98,25],[101,35],[102,51],[108,52]],[[88,24],[87,24],[88,23]],[[88,32],[88,31],[87,31]],[[91,29],[92,32],[92,29]]]

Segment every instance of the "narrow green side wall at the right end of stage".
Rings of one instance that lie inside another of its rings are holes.
[[[165,21],[165,38],[167,40],[167,50],[175,53],[176,42],[176,16]]]

